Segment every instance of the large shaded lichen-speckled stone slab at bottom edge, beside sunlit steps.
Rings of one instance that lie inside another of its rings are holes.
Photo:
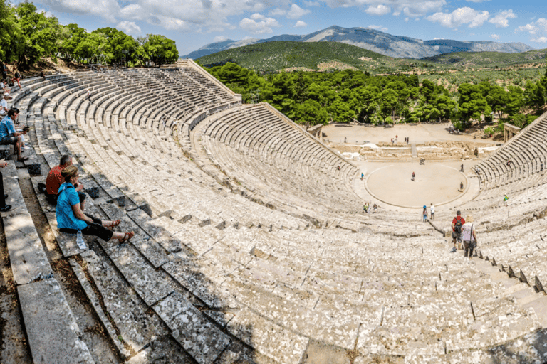
[[[230,343],[229,336],[177,292],[160,301],[154,311],[172,330],[175,340],[198,363],[214,362]]]

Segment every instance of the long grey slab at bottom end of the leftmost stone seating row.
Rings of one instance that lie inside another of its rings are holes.
[[[56,279],[17,287],[34,363],[94,363]]]

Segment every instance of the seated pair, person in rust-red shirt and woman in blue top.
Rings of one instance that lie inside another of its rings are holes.
[[[100,220],[83,213],[86,195],[82,192],[83,184],[78,178],[78,168],[73,165],[72,157],[63,155],[59,165],[49,171],[46,183],[38,184],[38,190],[46,195],[48,202],[56,205],[58,229],[71,234],[81,231],[83,235],[97,236],[105,241],[130,240],[135,235],[134,232],[112,231],[120,225],[121,220]]]

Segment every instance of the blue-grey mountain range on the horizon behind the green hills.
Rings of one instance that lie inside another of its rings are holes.
[[[283,34],[268,39],[245,39],[242,41],[226,40],[210,43],[188,55],[182,56],[182,58],[197,59],[204,55],[217,53],[221,50],[274,41],[340,42],[356,45],[360,48],[372,50],[373,52],[394,58],[425,58],[453,52],[521,53],[535,49],[520,42],[498,43],[492,41],[453,41],[449,39],[422,41],[421,39],[405,36],[393,36],[371,28],[343,28],[341,26],[330,26],[322,31],[316,31],[315,33],[310,33],[305,36]]]

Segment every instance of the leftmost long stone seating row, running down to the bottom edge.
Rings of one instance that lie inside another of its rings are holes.
[[[80,328],[46,257],[19,188],[16,168],[2,168],[4,191],[11,204],[2,213],[11,272],[33,358],[48,363],[94,363]],[[43,335],[47,328],[48,335]],[[51,335],[51,337],[50,337]],[[54,348],[54,349],[52,349]]]

